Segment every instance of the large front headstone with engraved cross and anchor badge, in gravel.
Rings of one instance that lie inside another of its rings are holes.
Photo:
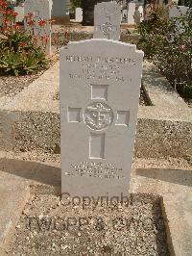
[[[60,50],[62,193],[129,191],[143,52],[108,39]]]

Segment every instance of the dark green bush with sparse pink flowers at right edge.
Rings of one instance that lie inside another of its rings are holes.
[[[185,98],[192,98],[192,9],[168,18],[158,9],[140,25],[138,47]]]

